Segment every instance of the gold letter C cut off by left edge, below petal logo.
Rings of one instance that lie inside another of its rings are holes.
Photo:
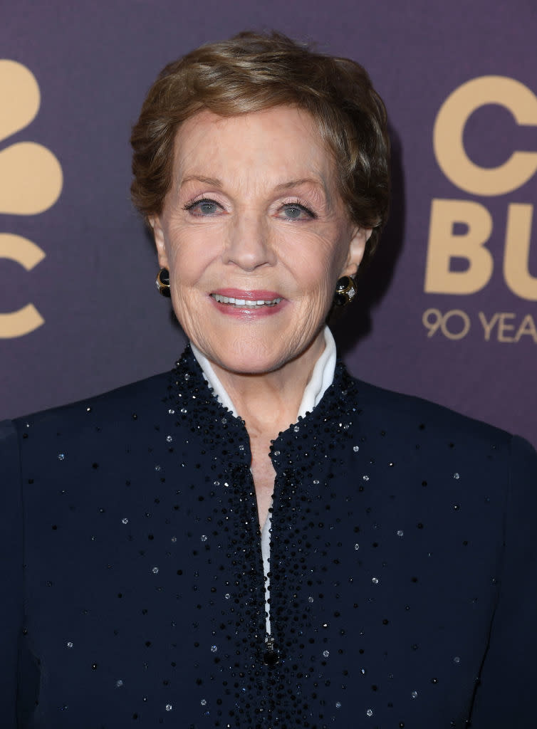
[[[0,258],[20,263],[27,271],[45,258],[45,253],[35,243],[20,235],[0,233]],[[33,304],[26,304],[18,311],[0,313],[0,338],[22,337],[45,324],[45,319]]]

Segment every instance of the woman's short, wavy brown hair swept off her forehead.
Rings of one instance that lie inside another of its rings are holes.
[[[280,105],[312,115],[339,172],[349,217],[373,233],[373,252],[390,195],[386,109],[359,63],[317,53],[273,32],[239,33],[169,63],[134,125],[131,194],[147,220],[162,211],[171,185],[179,125],[202,109],[230,117]]]

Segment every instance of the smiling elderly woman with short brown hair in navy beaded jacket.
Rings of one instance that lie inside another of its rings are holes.
[[[533,449],[354,380],[325,326],[387,214],[366,72],[240,34],[132,144],[190,344],[1,426],[2,727],[536,725]]]

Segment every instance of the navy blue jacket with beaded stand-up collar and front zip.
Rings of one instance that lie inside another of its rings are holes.
[[[537,725],[537,457],[341,364],[250,445],[190,351],[0,424],[2,729]]]

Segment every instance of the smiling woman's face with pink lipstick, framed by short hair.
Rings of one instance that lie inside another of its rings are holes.
[[[370,231],[349,221],[312,118],[199,112],[174,149],[151,224],[185,334],[232,373],[313,366],[336,281],[356,273]]]

